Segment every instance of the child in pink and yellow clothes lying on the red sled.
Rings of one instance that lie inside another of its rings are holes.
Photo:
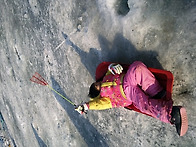
[[[88,110],[104,110],[133,104],[142,113],[174,124],[183,136],[188,129],[186,110],[173,106],[172,99],[165,98],[166,91],[159,85],[146,65],[135,61],[124,73],[120,64],[112,63],[102,81],[90,86],[89,102],[77,105],[80,114]],[[161,100],[160,100],[161,99]]]

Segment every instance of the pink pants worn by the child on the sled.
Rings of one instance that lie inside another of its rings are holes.
[[[142,62],[136,61],[130,65],[124,77],[123,89],[126,97],[141,112],[170,123],[173,101],[151,98],[163,88]]]

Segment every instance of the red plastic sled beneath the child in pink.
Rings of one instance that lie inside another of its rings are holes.
[[[102,62],[100,63],[97,68],[96,68],[96,73],[95,73],[95,79],[96,81],[100,81],[106,74],[108,70],[108,66],[112,62]],[[123,66],[123,70],[127,71],[129,68],[128,64],[121,64]],[[161,69],[156,69],[156,68],[148,68],[156,77],[156,79],[159,81],[160,85],[166,90],[166,99],[171,99],[172,98],[172,88],[173,88],[173,74],[170,71],[166,70],[161,70]],[[137,109],[133,104],[125,107],[129,110],[134,110],[136,112],[141,112],[139,109]],[[145,113],[143,113],[145,114]],[[146,114],[148,115],[148,114]]]

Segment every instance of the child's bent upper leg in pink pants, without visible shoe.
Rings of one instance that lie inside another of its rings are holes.
[[[130,65],[124,77],[124,83],[132,86],[140,86],[150,97],[155,96],[163,90],[155,76],[140,61],[135,61]]]

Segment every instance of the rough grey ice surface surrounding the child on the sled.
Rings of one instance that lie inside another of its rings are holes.
[[[195,0],[2,0],[0,10],[0,112],[16,146],[196,146]],[[100,62],[135,60],[174,74],[185,136],[123,108],[80,116],[29,80],[36,71],[79,104]]]

